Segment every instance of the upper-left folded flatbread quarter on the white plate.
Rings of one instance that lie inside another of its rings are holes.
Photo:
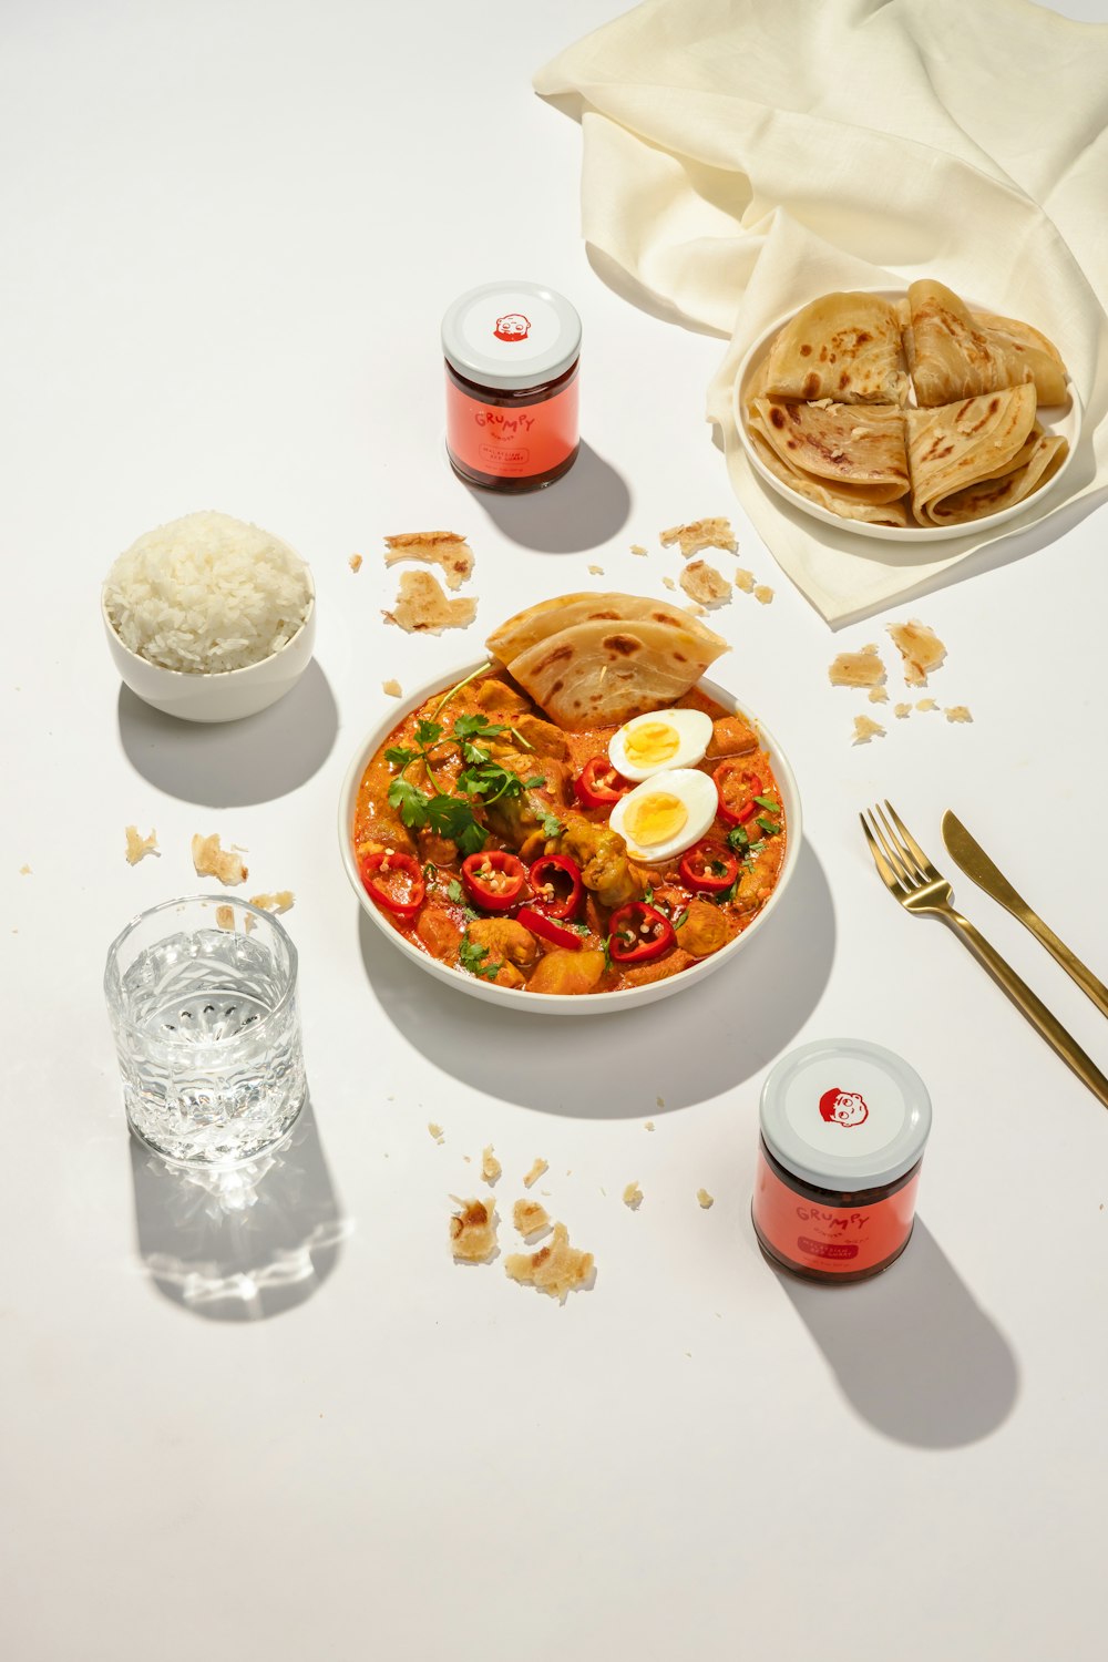
[[[897,309],[879,294],[822,294],[776,336],[764,392],[774,399],[905,404]]]

